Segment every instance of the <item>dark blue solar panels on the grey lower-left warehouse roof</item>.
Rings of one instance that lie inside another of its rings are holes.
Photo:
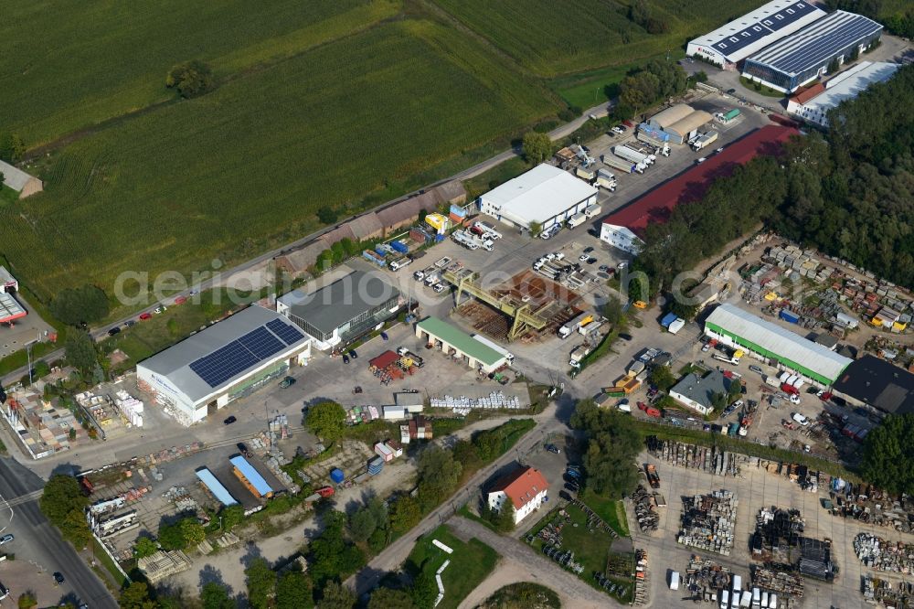
[[[302,333],[292,326],[273,319],[267,322],[267,326],[255,328],[243,337],[239,337],[238,340],[233,340],[225,347],[213,351],[205,358],[192,361],[189,365],[190,369],[210,387],[218,387],[257,362],[282,351],[282,342],[273,336],[273,333],[267,329],[268,327],[282,337],[282,341],[286,345],[292,345],[303,338]]]

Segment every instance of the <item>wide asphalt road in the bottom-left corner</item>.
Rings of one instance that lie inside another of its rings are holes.
[[[37,475],[10,458],[0,458],[0,495],[5,499],[28,496],[44,486]],[[17,559],[34,561],[48,572],[61,572],[66,582],[60,587],[62,599],[79,600],[92,609],[117,609],[118,604],[104,583],[91,571],[68,542],[64,541],[38,509],[37,497],[16,505],[10,519],[5,504],[0,506],[0,526],[16,540],[9,546]],[[16,582],[5,582],[14,594],[25,592]],[[75,598],[73,598],[75,596]]]

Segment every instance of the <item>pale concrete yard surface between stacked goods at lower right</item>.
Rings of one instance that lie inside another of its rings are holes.
[[[667,501],[667,507],[660,508],[659,529],[650,535],[638,530],[637,522],[632,518],[632,506],[630,503],[626,506],[635,546],[645,547],[651,552],[651,569],[654,572],[651,578],[651,598],[652,606],[655,607],[677,606],[681,602],[683,591],[673,592],[668,589],[666,572],[685,572],[688,559],[693,553],[729,567],[742,575],[744,582],[748,582],[748,565],[753,564],[749,560],[749,536],[755,529],[755,518],[762,507],[799,509],[805,519],[806,537],[832,540],[832,559],[840,570],[839,575],[831,584],[807,579],[802,604],[798,604],[802,607],[830,609],[863,606],[860,582],[865,570],[857,561],[853,549],[853,540],[858,532],[870,531],[886,540],[906,540],[909,543],[914,538],[893,529],[867,526],[856,520],[831,516],[820,504],[820,499],[827,497],[826,493],[803,491],[783,476],[769,474],[754,465],[744,466],[741,475],[733,478],[676,467],[657,460],[650,454],[642,454],[639,461],[657,466],[661,480],[659,492],[664,494]],[[710,493],[721,488],[733,491],[739,499],[734,551],[729,557],[723,557],[677,544],[675,536],[680,526],[681,497]],[[891,575],[888,579],[898,581],[898,577]]]

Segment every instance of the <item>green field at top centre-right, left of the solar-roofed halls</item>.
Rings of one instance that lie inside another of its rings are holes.
[[[740,16],[762,0],[734,0],[721,15],[717,0],[648,0],[649,14],[669,27],[648,34],[628,18],[628,4],[613,0],[434,0],[539,76],[627,64],[675,51],[689,37]]]

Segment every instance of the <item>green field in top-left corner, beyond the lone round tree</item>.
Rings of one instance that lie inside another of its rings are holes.
[[[202,59],[226,78],[358,31],[399,9],[395,0],[5,3],[0,117],[4,128],[34,147],[173,98],[164,83],[176,63]]]

